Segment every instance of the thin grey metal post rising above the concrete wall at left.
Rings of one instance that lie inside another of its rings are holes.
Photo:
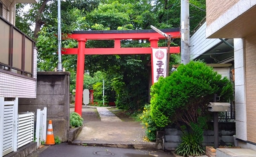
[[[62,70],[61,64],[61,0],[58,0],[58,68],[57,71]]]

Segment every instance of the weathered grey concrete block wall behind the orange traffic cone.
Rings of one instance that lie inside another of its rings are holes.
[[[47,128],[52,120],[54,136],[67,141],[70,127],[70,73],[38,72],[37,97],[19,98],[18,112],[35,112],[47,107]],[[35,121],[36,122],[36,121]]]

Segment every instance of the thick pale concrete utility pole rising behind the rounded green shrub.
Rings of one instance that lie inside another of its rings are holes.
[[[181,63],[187,64],[190,61],[189,0],[181,0],[180,3]]]

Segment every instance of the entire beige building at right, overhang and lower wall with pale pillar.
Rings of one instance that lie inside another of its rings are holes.
[[[206,0],[207,38],[234,38],[236,137],[256,151],[256,0]]]

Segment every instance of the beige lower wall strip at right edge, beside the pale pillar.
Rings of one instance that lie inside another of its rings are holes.
[[[256,33],[244,38],[247,140],[256,143]]]

